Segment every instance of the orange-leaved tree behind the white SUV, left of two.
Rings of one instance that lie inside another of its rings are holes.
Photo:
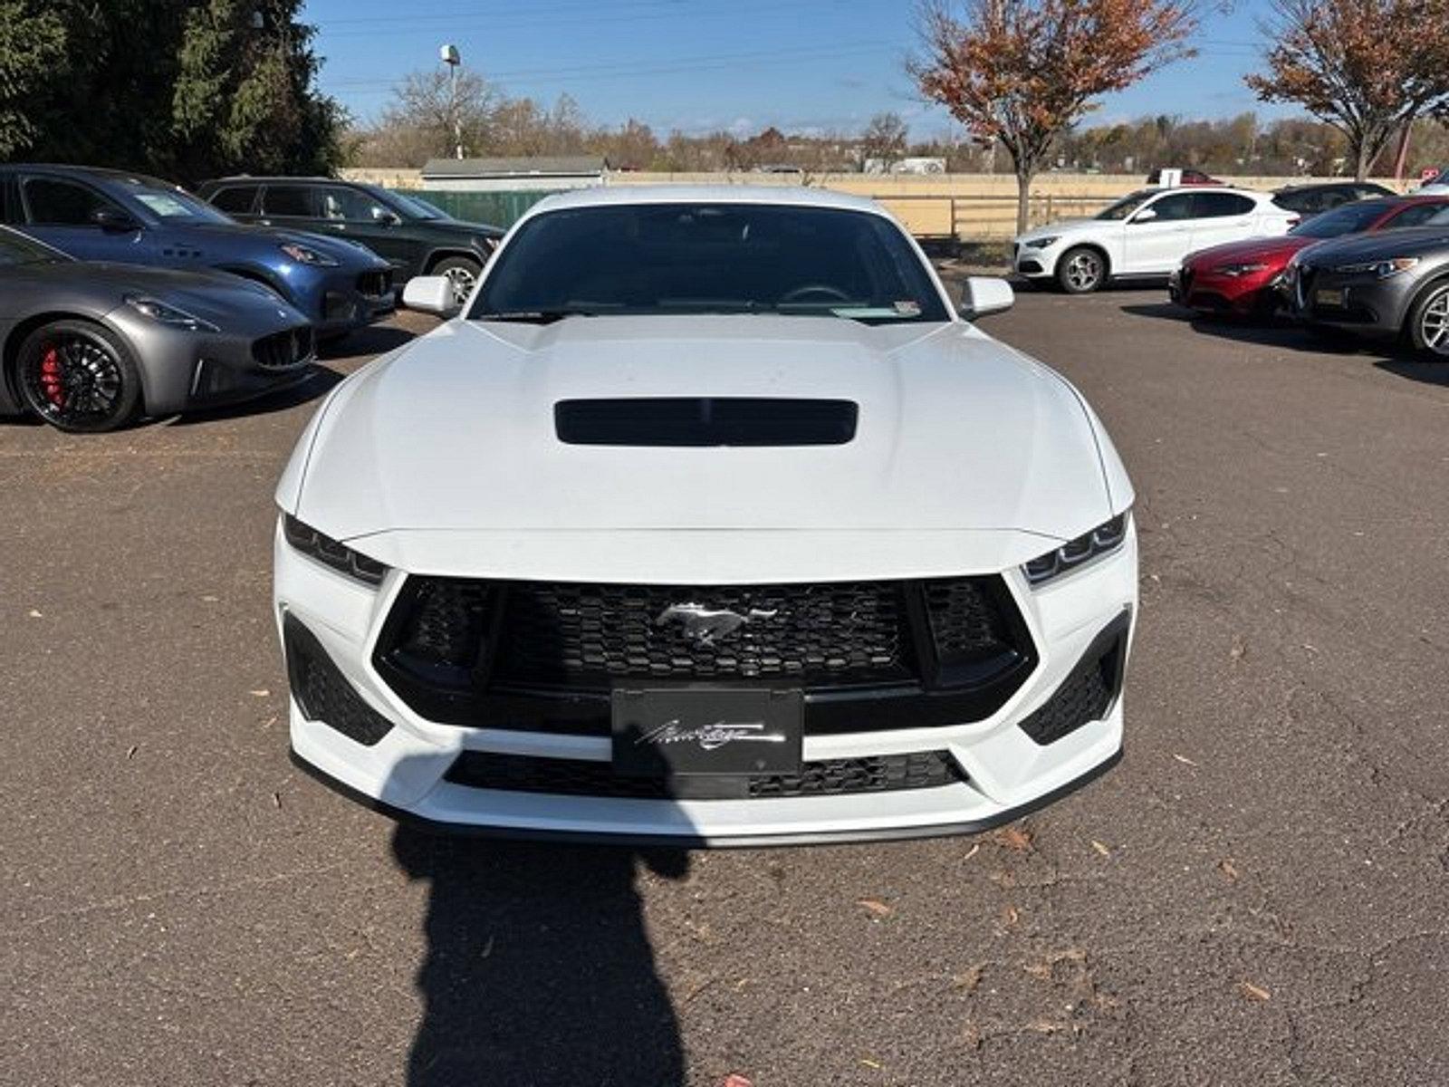
[[[1094,109],[1181,57],[1197,26],[1191,0],[945,0],[920,9],[922,93],[1016,168],[1016,228],[1053,141]]]

